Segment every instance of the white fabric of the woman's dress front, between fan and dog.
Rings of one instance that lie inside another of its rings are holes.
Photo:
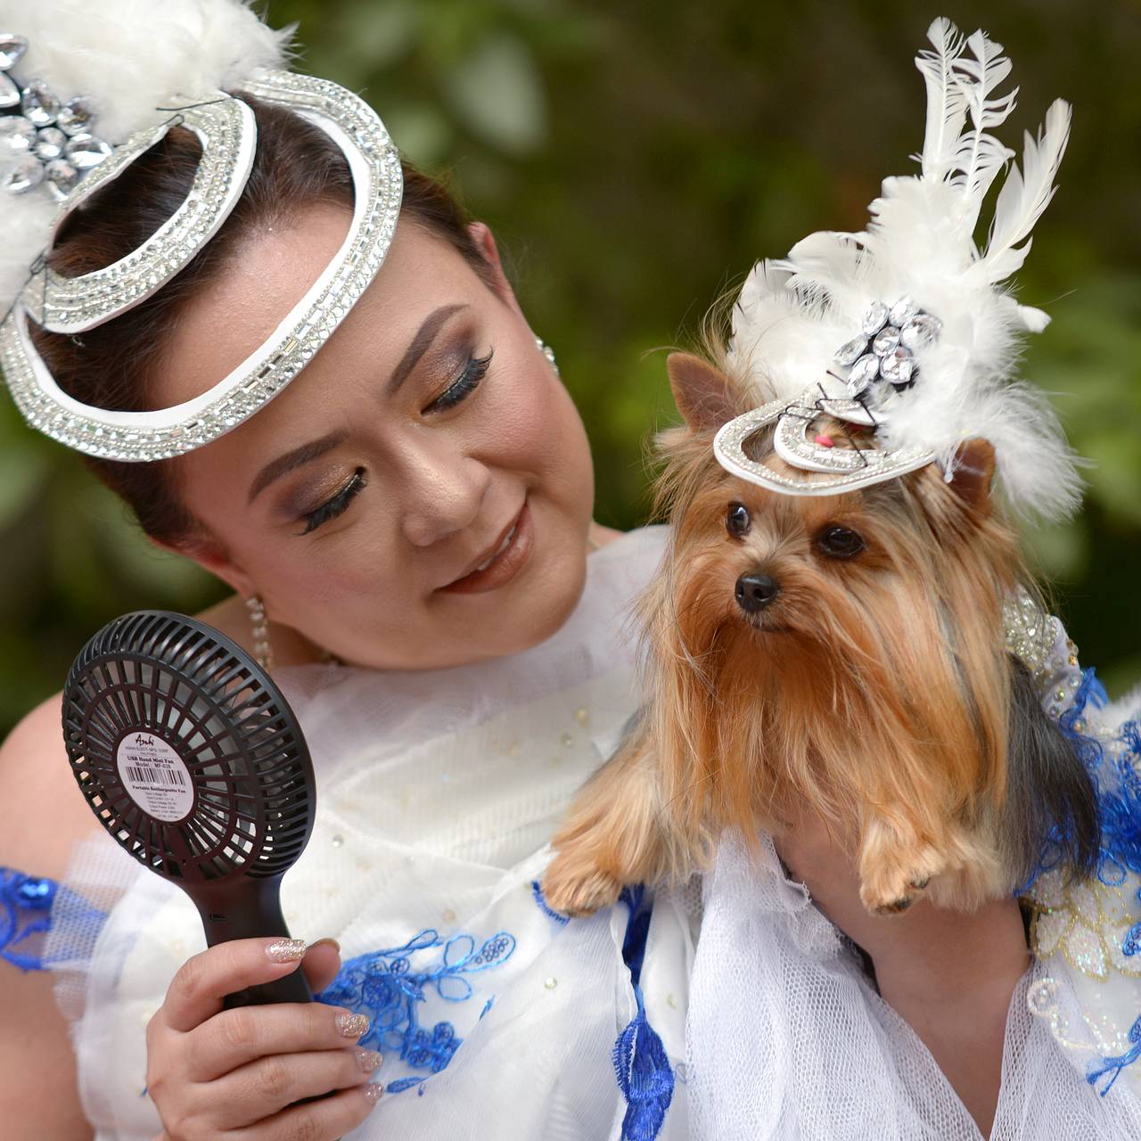
[[[462,1044],[438,1074],[387,1052],[380,1081],[424,1081],[386,1095],[354,1139],[620,1136],[626,1107],[612,1052],[637,1010],[622,958],[626,909],[560,924],[531,884],[572,796],[637,706],[628,608],[664,536],[644,528],[591,555],[569,621],[524,654],[424,673],[277,671],[318,790],[313,839],[283,884],[292,932],[337,938],[346,960],[424,931],[470,936],[477,948],[500,932],[515,940],[496,965],[463,976],[469,998],[426,987],[420,1025],[447,1021]],[[103,837],[78,853],[70,882],[97,887],[102,899],[121,891],[94,948],[74,930],[55,932],[57,952],[72,944],[62,998],[79,1019],[84,1109],[100,1141],[151,1139],[160,1123],[144,1094],[144,1028],[203,946],[201,924],[181,892]],[[438,966],[464,946],[416,952],[412,966]],[[683,906],[658,899],[641,982],[671,1065],[685,1051],[693,946]],[[685,1123],[679,1082],[659,1136],[678,1141]]]

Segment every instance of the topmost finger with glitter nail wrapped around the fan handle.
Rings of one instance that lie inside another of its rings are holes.
[[[222,1008],[226,995],[297,970],[300,939],[235,939],[193,955],[170,982],[159,1012],[172,1030],[193,1030]]]

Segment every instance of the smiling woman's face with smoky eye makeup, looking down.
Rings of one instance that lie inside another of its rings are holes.
[[[181,317],[157,397],[189,399],[253,351],[347,226],[346,211],[316,207],[251,240]],[[489,233],[474,234],[493,286],[402,219],[372,285],[297,379],[175,461],[210,533],[186,552],[347,662],[428,669],[525,649],[582,591],[582,421]]]

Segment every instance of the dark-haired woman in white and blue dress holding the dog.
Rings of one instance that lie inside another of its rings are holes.
[[[354,201],[342,155],[248,103],[250,181],[187,268],[82,343],[35,334],[86,404],[200,395],[337,257]],[[52,268],[87,273],[140,245],[196,160],[171,130],[60,232]],[[697,907],[675,892],[652,913],[631,898],[566,923],[532,888],[561,810],[637,707],[622,623],[665,535],[591,521],[581,421],[487,228],[405,170],[379,272],[286,390],[175,460],[92,466],[153,541],[234,589],[202,617],[272,654],[318,777],[286,916],[318,941],[192,954],[196,916],[91,819],[58,698],[46,703],[0,754],[0,864],[65,880],[66,899],[108,915],[81,930],[57,906],[41,956],[63,972],[64,1005],[71,994],[78,1067],[50,974],[0,969],[6,1135],[78,1139],[94,1123],[108,1138],[337,1138],[369,1118],[379,1069],[390,1092],[362,1136],[685,1136]],[[27,828],[47,806],[50,827]],[[869,920],[847,858],[811,827],[782,848],[986,1131],[1028,960],[1017,906]],[[325,1004],[221,1010],[302,954]],[[408,978],[414,1001],[397,986]]]

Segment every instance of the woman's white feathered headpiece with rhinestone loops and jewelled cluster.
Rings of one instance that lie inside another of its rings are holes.
[[[375,113],[286,67],[290,31],[246,0],[0,0],[0,369],[25,419],[90,455],[167,459],[216,439],[276,396],[375,276],[399,212],[399,156]],[[121,412],[64,393],[29,322],[82,333],[155,293],[218,232],[245,186],[257,122],[238,90],[314,123],[348,161],[355,205],[324,273],[228,377],[170,408]],[[81,277],[47,264],[74,210],[173,126],[203,154],[183,204],[138,250]]]

